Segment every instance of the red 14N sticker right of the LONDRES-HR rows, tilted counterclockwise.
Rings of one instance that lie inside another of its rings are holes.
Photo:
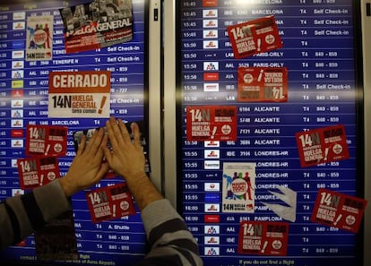
[[[342,124],[297,133],[296,138],[301,167],[349,159]]]

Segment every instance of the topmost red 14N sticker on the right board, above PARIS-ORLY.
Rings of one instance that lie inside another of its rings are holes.
[[[282,47],[274,16],[232,25],[227,31],[236,59]]]

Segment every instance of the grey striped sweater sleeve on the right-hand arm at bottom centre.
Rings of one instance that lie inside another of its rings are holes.
[[[151,251],[138,266],[203,265],[194,236],[168,200],[152,202],[144,208],[142,220]]]

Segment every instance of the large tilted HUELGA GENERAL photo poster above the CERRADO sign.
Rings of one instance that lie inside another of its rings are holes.
[[[94,0],[60,9],[65,26],[65,52],[113,46],[133,39],[131,0]]]

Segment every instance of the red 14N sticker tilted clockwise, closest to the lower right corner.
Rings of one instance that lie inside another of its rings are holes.
[[[311,221],[357,233],[366,205],[363,199],[321,188]]]

